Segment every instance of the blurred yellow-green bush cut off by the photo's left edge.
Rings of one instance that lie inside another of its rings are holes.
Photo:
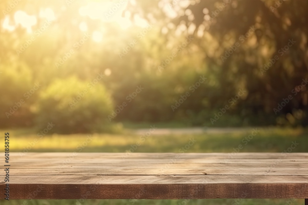
[[[31,105],[36,100],[37,91],[30,94],[27,92],[31,91],[35,83],[37,82],[33,82],[31,70],[25,63],[0,65],[1,128],[32,125]]]

